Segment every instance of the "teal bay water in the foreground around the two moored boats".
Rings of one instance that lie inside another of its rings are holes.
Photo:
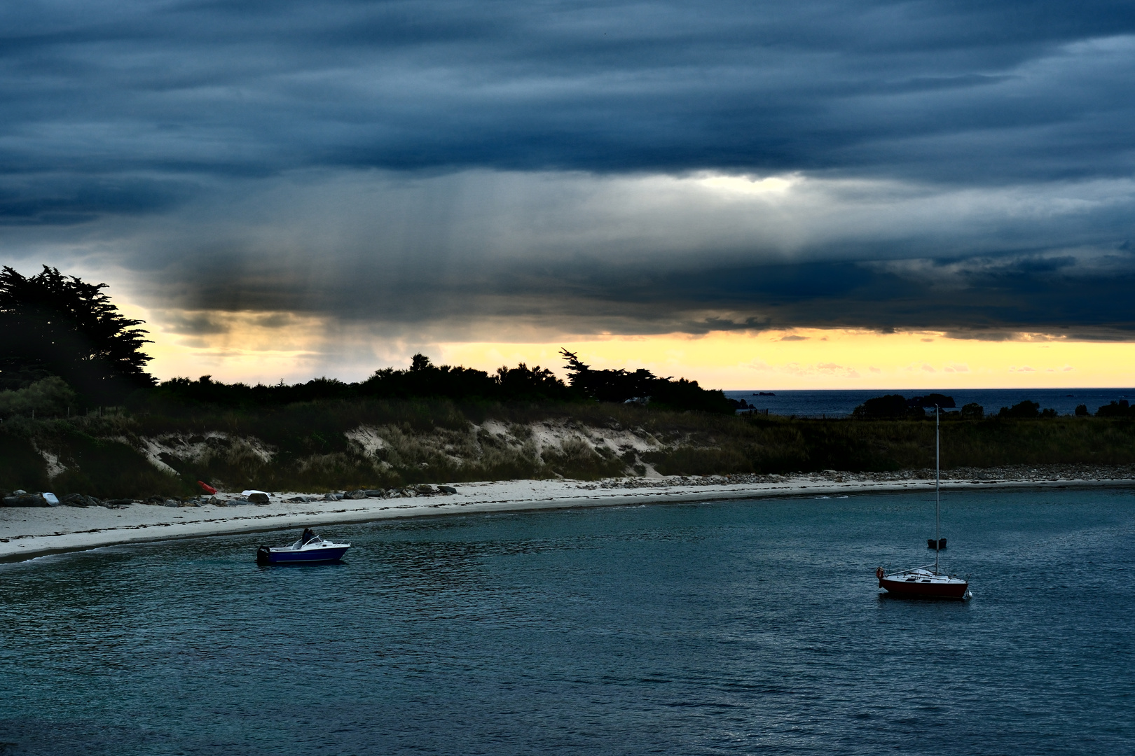
[[[0,753],[1123,754],[1135,495],[927,492],[327,527],[0,566]]]

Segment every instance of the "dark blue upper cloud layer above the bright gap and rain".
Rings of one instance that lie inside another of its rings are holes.
[[[1130,170],[1129,49],[1043,69],[1135,29],[1120,2],[60,2],[2,20],[8,171]]]

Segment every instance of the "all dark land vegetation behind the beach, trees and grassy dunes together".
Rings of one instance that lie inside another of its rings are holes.
[[[947,469],[1135,462],[1135,408],[1056,417],[1033,401],[984,408],[889,394],[848,419],[734,416],[742,402],[646,369],[596,369],[563,350],[568,380],[520,364],[434,365],[359,383],[153,385],[144,331],[102,292],[44,267],[0,274],[0,489],[99,498],[326,491],[474,479],[925,468],[933,417]],[[100,405],[116,404],[104,411]],[[77,411],[79,410],[79,411]]]

